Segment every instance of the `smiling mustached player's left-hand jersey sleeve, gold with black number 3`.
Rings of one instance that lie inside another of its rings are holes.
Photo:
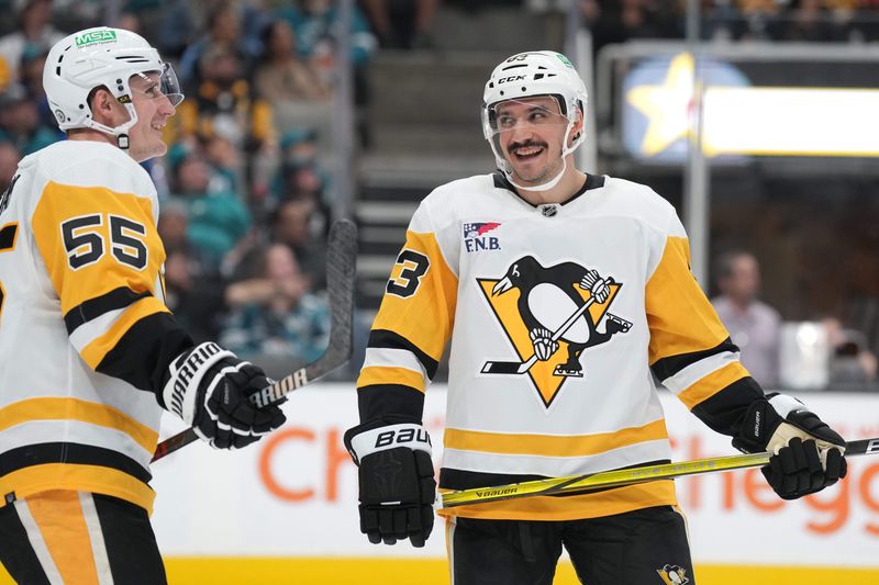
[[[457,274],[443,254],[427,206],[412,217],[391,270],[357,380],[360,419],[420,419],[424,391],[452,336]]]

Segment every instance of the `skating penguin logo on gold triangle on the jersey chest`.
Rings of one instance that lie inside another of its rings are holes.
[[[576,262],[546,268],[524,256],[500,279],[477,282],[519,358],[487,361],[481,373],[526,373],[546,407],[568,378],[583,378],[587,348],[632,327],[608,313],[622,283]]]

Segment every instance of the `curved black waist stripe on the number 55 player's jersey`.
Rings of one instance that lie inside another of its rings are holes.
[[[110,468],[145,484],[153,479],[153,475],[143,465],[119,451],[77,442],[42,442],[0,453],[0,476],[24,468],[47,463]]]

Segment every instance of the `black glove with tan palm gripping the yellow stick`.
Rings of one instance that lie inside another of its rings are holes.
[[[845,440],[791,396],[772,393],[750,405],[733,438],[747,453],[770,451],[766,481],[785,499],[797,499],[845,477]]]

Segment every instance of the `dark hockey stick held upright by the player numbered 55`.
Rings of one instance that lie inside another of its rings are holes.
[[[251,395],[257,407],[278,402],[283,396],[319,380],[344,364],[352,352],[352,314],[354,312],[354,278],[357,261],[357,226],[340,220],[330,229],[326,249],[326,290],[330,294],[330,342],[318,360],[303,365],[262,392]],[[156,447],[157,461],[198,439],[191,428],[175,435]]]

